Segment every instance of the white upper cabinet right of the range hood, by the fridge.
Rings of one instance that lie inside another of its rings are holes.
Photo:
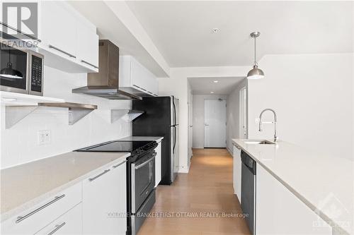
[[[159,83],[154,74],[132,56],[119,58],[119,86],[122,90],[138,92],[141,96],[157,96],[159,92]]]

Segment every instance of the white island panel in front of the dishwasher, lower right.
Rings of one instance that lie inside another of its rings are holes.
[[[331,227],[259,164],[256,234],[331,235]]]

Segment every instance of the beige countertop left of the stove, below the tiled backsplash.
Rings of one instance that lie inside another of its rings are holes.
[[[129,156],[130,152],[67,152],[2,169],[1,222]]]

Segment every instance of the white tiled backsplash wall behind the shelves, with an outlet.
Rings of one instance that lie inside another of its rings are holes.
[[[84,85],[86,73],[69,74],[45,66],[45,96],[98,105],[97,110],[72,126],[68,124],[67,109],[40,107],[6,129],[5,110],[1,107],[1,169],[131,135],[130,123],[110,123],[110,108],[128,109],[131,102],[72,94],[72,88]],[[38,145],[40,130],[51,131],[50,145]]]

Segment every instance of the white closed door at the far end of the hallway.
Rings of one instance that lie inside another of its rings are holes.
[[[226,147],[226,100],[205,100],[204,122],[204,147]]]

